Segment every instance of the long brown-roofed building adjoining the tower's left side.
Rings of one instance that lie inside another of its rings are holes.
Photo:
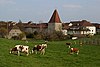
[[[17,26],[21,28],[26,33],[34,33],[35,31],[47,31],[48,23],[18,23]]]

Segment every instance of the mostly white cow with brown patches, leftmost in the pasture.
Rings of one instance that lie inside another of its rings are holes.
[[[24,45],[16,45],[14,48],[10,49],[10,53],[17,52],[18,56],[20,56],[20,52],[26,53],[26,55],[29,55],[29,46]]]

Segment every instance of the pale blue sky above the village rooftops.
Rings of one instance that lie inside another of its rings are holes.
[[[0,0],[0,21],[49,21],[57,9],[62,22],[100,23],[100,0]]]

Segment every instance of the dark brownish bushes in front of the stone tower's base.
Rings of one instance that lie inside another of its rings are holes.
[[[34,33],[26,33],[26,37],[33,39],[48,40],[48,41],[66,40],[70,38],[69,35],[66,36],[61,31],[54,31],[52,33],[35,31]]]

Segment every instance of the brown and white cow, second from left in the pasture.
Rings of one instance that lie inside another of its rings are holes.
[[[47,44],[41,44],[41,45],[35,45],[34,48],[32,49],[32,53],[36,53],[39,51],[40,54],[43,54],[45,53],[45,48],[47,48]]]

